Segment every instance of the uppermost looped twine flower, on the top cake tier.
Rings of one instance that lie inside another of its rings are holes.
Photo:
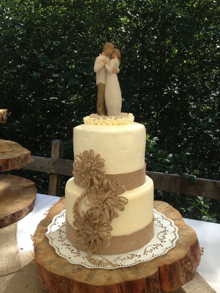
[[[90,186],[97,184],[105,177],[104,159],[100,158],[100,154],[94,155],[94,151],[84,151],[75,157],[74,175],[80,182],[80,187],[88,189]]]

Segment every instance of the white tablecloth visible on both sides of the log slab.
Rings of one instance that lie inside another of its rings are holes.
[[[45,212],[59,199],[59,197],[37,194],[33,211],[18,222],[19,250],[33,249],[30,235],[34,234],[38,223],[45,218]],[[195,230],[200,246],[204,247],[197,272],[216,292],[220,293],[220,224],[190,219],[184,221]]]

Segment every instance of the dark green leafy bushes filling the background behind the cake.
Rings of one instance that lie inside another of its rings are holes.
[[[42,157],[62,139],[73,159],[72,129],[96,111],[94,59],[111,41],[122,53],[122,110],[147,129],[147,170],[219,180],[219,15],[208,0],[0,0],[0,105],[9,111],[0,137]],[[10,173],[47,193],[47,174]],[[220,220],[220,200],[155,199]]]

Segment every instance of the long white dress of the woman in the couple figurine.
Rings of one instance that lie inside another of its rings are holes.
[[[109,66],[106,64],[106,87],[105,87],[105,102],[108,116],[119,115],[121,113],[121,89],[118,82],[117,74],[112,73],[113,68],[118,68],[119,61],[111,59]]]

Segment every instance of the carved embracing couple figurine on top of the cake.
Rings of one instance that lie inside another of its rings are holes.
[[[107,42],[103,46],[103,52],[95,60],[94,72],[96,72],[97,115],[118,115],[121,112],[121,90],[116,73],[119,72],[120,51],[114,49],[114,45]]]

